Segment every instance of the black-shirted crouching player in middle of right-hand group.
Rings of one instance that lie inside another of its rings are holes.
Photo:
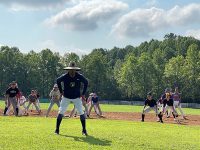
[[[169,108],[171,110],[174,120],[177,123],[180,123],[179,119],[177,118],[178,114],[174,108],[174,101],[173,101],[170,93],[166,93],[166,98],[163,100],[163,111],[162,111],[163,114],[166,113],[167,108]]]

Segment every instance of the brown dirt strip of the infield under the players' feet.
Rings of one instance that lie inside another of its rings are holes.
[[[51,111],[49,113],[49,117],[56,117],[57,111]],[[66,112],[66,115],[70,112]],[[0,114],[3,114],[3,110],[0,109]],[[35,117],[45,117],[46,110],[42,110],[42,113],[39,115],[36,111],[29,111],[28,116],[35,116]],[[10,114],[12,115],[12,113]],[[24,116],[24,117],[28,117]],[[66,117],[67,118],[67,117]],[[78,117],[74,117],[78,118]],[[92,113],[90,115],[90,118],[88,119],[107,119],[107,120],[127,120],[127,121],[141,121],[141,113],[135,113],[135,112],[104,112],[103,117],[98,117],[96,114]],[[145,122],[156,122],[157,118],[155,114],[148,113],[145,116]],[[180,124],[181,125],[194,125],[194,126],[200,126],[200,115],[187,115],[187,120],[181,119],[179,117]],[[166,116],[163,117],[164,123],[170,123],[170,124],[177,124],[177,122],[174,121],[173,116],[170,118],[166,118]]]

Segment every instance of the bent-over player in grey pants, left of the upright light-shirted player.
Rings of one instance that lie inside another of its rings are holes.
[[[36,95],[35,90],[31,90],[31,94],[28,96],[28,101],[29,101],[29,103],[28,103],[28,106],[26,108],[26,113],[28,114],[28,109],[29,109],[30,105],[33,104],[33,105],[35,105],[36,110],[40,114],[41,111],[40,111],[40,109],[37,105],[37,95]]]

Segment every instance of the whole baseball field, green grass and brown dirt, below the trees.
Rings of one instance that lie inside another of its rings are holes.
[[[104,118],[94,113],[87,119],[89,136],[81,134],[78,117],[65,118],[60,135],[54,134],[57,107],[45,118],[48,104],[41,104],[42,114],[0,116],[0,150],[66,150],[66,149],[130,149],[130,150],[199,150],[200,109],[183,109],[188,116],[181,124],[172,117],[164,124],[156,122],[153,113],[140,122],[141,106],[101,105]],[[4,103],[0,102],[0,112]],[[72,105],[69,110],[72,109]]]

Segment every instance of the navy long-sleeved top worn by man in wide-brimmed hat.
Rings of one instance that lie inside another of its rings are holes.
[[[62,89],[61,83],[64,84],[64,90]],[[83,83],[83,92],[80,93],[81,83]],[[70,77],[68,73],[62,75],[57,79],[57,85],[60,93],[63,94],[64,97],[69,99],[79,98],[82,95],[85,95],[87,90],[88,81],[81,74],[77,73],[74,77]]]

